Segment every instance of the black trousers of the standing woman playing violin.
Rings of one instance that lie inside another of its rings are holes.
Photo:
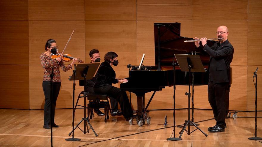
[[[51,94],[50,94],[50,81],[43,81],[43,91],[45,94],[45,105],[44,105],[44,125],[46,124],[51,124],[50,121],[50,114],[52,113],[52,122],[54,124],[54,111],[55,111],[55,105],[56,105],[56,100],[60,91],[61,87],[61,82],[53,82],[53,97],[52,97],[52,102],[51,102]],[[50,111],[52,105],[52,112]]]

